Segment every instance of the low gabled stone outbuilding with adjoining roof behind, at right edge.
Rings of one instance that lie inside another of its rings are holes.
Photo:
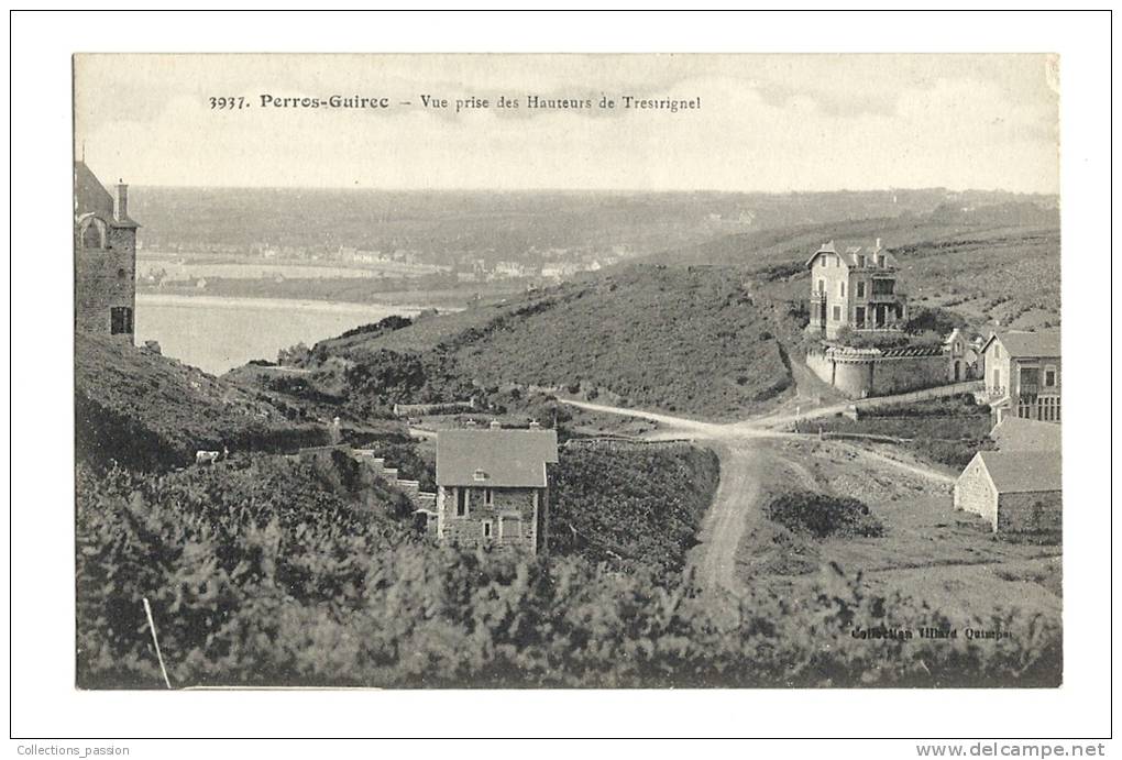
[[[995,533],[1058,538],[1063,525],[1060,425],[1015,416],[990,432],[955,482],[956,510],[985,518]]]

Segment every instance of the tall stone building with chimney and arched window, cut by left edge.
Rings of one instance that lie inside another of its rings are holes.
[[[134,339],[137,228],[129,189],[116,199],[84,162],[74,163],[74,328]]]

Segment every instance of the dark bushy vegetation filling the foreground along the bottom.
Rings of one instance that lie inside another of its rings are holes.
[[[162,477],[80,470],[79,685],[163,688],[144,599],[174,687],[1059,679],[1060,631],[1040,615],[969,621],[1017,631],[985,645],[855,638],[963,621],[871,595],[836,567],[806,597],[757,590],[714,604],[688,574],[439,548],[377,483],[307,467],[254,456]]]

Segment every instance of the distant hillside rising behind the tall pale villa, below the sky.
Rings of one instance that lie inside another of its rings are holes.
[[[953,309],[976,324],[1059,323],[1059,214],[1028,202],[730,235],[651,260],[741,266],[762,292],[798,300],[808,289],[802,265],[818,246],[876,238],[900,262],[913,304]]]

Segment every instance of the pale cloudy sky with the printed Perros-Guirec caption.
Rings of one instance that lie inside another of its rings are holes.
[[[138,185],[1058,193],[1058,71],[1026,54],[79,55],[75,153]],[[261,101],[332,94],[389,107]],[[457,113],[471,97],[489,107]]]

